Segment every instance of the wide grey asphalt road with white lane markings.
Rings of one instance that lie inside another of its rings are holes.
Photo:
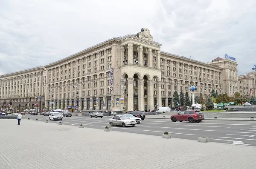
[[[49,120],[48,116],[23,115],[24,120],[38,121]],[[63,125],[79,126],[104,129],[109,126],[112,131],[131,132],[145,135],[162,136],[164,132],[169,132],[172,137],[198,140],[198,137],[209,137],[211,142],[232,143],[256,146],[256,122],[254,121],[232,121],[232,120],[203,120],[200,123],[172,122],[170,119],[147,119],[134,127],[111,127],[108,123],[110,117],[90,118],[84,116],[64,117],[61,121]],[[58,123],[49,121],[49,123]],[[22,124],[22,120],[21,120]]]

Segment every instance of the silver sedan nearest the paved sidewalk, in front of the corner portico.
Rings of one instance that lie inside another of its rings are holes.
[[[111,126],[135,126],[136,121],[133,119],[129,119],[126,116],[114,116],[111,119],[109,119],[109,123]]]

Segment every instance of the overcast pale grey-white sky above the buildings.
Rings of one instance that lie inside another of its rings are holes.
[[[256,64],[255,0],[1,0],[0,74],[44,66],[148,28],[161,50]]]

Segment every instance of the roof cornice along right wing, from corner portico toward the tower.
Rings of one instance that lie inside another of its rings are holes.
[[[160,54],[161,54],[161,56],[169,57],[171,59],[180,60],[180,61],[183,61],[183,62],[189,62],[189,63],[193,63],[193,64],[196,64],[196,65],[201,65],[201,66],[204,66],[204,67],[207,67],[207,68],[218,69],[219,71],[222,71],[222,68],[220,68],[220,67],[211,66],[207,63],[200,62],[200,61],[193,60],[193,59],[189,59],[187,57],[179,56],[177,54],[171,54],[171,53],[167,53],[167,52],[163,52],[163,51],[161,51]]]

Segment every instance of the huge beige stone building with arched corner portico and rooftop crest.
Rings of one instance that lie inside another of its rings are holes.
[[[44,67],[1,75],[0,107],[151,110],[172,107],[174,91],[190,93],[191,85],[205,97],[212,89],[238,91],[237,63],[230,57],[203,63],[160,48],[144,28]]]

